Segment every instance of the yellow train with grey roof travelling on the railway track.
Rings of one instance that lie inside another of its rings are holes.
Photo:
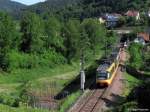
[[[113,82],[119,67],[121,50],[122,48],[118,48],[113,51],[97,68],[96,85],[98,87],[108,87]]]

